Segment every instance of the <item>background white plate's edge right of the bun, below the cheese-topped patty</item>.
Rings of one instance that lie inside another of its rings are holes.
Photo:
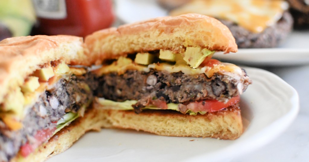
[[[293,31],[278,48],[238,49],[238,52],[229,54],[217,52],[214,58],[247,65],[309,64],[309,31]]]

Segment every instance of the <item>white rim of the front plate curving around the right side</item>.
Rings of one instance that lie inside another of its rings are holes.
[[[250,67],[244,67],[244,69],[247,72],[250,72],[251,70],[260,71],[264,73],[265,75],[269,75],[270,77],[275,78],[277,81],[280,81],[281,84],[285,84],[286,88],[289,88],[289,90],[291,91],[290,103],[292,103],[291,104],[292,107],[290,108],[290,111],[249,139],[243,140],[239,143],[232,144],[226,148],[223,148],[222,150],[212,152],[211,153],[212,156],[200,155],[200,156],[195,156],[193,158],[186,159],[184,161],[205,161],[205,159],[207,159],[207,161],[220,161],[220,160],[226,160],[229,158],[237,157],[237,156],[240,156],[241,154],[245,154],[248,152],[252,152],[262,147],[263,145],[269,143],[271,140],[273,140],[278,135],[280,135],[287,127],[290,126],[290,124],[296,118],[299,112],[299,97],[298,97],[297,91],[291,85],[289,85],[288,83],[283,81],[280,77],[278,77],[277,75],[269,71],[258,69],[258,68],[250,68]],[[273,132],[273,133],[269,134],[269,132]],[[251,147],[244,147],[244,146],[251,146]],[[238,148],[236,152],[235,152],[235,148]],[[224,156],[222,156],[222,153],[224,153]]]

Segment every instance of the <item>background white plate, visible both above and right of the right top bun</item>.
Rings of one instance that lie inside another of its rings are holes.
[[[156,0],[116,0],[115,2],[116,15],[124,23],[134,23],[168,14],[167,10],[156,3]],[[229,55],[216,53],[214,58],[247,65],[309,64],[309,31],[293,31],[278,48],[239,49],[237,53]]]

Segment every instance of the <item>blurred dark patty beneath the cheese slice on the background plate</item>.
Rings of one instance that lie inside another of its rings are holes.
[[[293,18],[287,11],[283,13],[282,18],[275,25],[267,27],[261,33],[252,33],[232,21],[219,20],[230,29],[238,48],[277,47],[286,39],[293,26]]]

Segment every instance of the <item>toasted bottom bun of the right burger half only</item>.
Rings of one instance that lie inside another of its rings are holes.
[[[157,135],[237,139],[243,133],[239,106],[204,115],[184,115],[173,110],[108,110],[112,127],[141,130]]]

